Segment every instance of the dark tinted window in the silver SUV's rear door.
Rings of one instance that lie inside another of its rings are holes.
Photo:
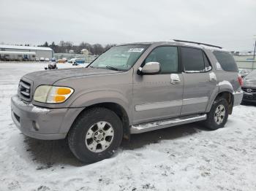
[[[185,71],[205,71],[202,50],[190,47],[181,47],[181,61],[184,65]]]

